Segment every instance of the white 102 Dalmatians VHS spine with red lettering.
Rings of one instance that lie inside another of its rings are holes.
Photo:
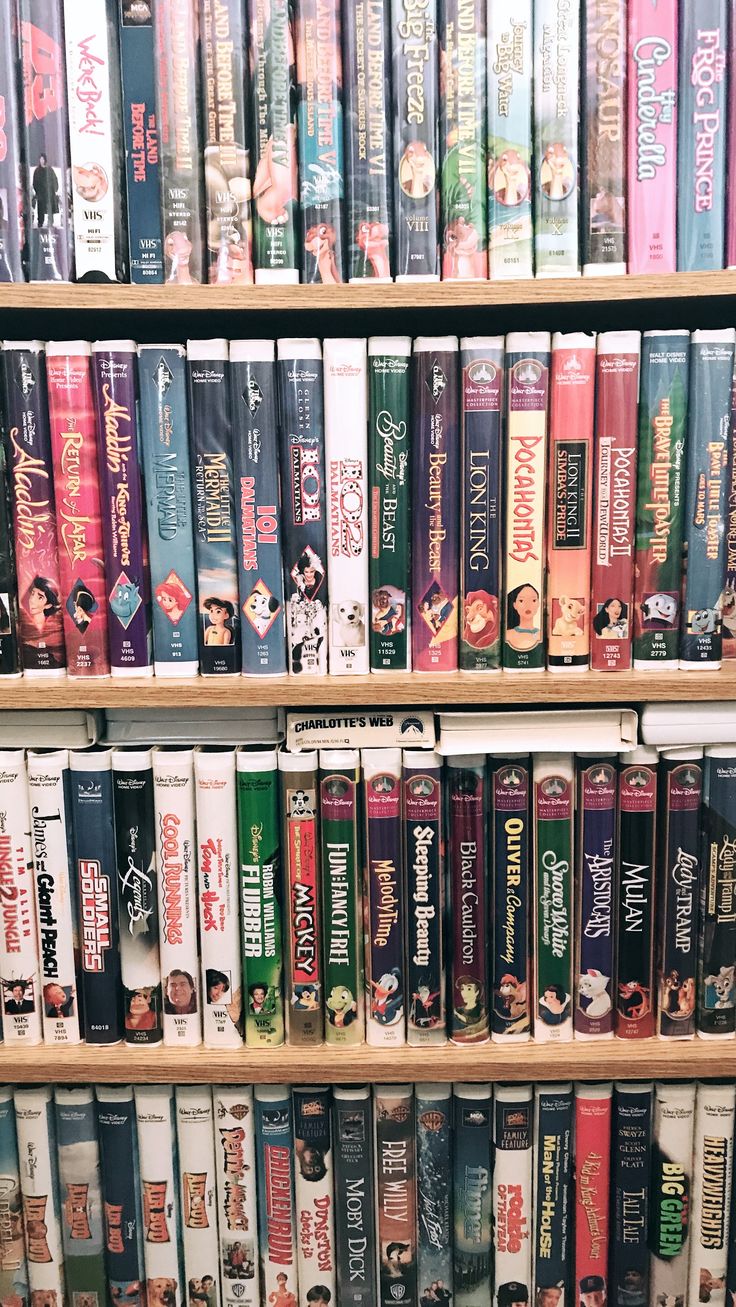
[[[345,423],[345,414],[350,421]],[[329,672],[369,672],[367,357],[365,340],[324,341]]]

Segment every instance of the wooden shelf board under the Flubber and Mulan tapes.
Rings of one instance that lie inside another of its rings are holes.
[[[622,1040],[499,1048],[0,1050],[4,1084],[388,1084],[413,1081],[694,1080],[736,1077],[736,1040]]]

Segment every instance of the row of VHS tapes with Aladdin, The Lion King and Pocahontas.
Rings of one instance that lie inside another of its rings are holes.
[[[735,341],[5,341],[0,673],[718,669]]]

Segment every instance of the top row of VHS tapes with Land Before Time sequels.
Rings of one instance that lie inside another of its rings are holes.
[[[7,0],[0,281],[733,267],[735,42],[729,0]]]

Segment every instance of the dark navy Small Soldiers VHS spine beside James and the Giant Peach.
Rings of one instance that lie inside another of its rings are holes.
[[[84,1038],[88,1044],[116,1044],[123,1038],[123,1005],[110,752],[73,750],[69,783]]]

